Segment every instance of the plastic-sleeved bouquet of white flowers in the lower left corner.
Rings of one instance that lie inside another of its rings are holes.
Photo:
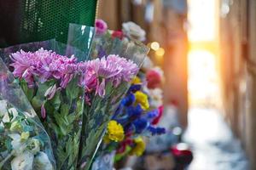
[[[50,139],[0,59],[0,169],[55,169]]]

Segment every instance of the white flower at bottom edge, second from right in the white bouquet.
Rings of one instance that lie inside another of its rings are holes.
[[[12,170],[32,170],[34,156],[25,151],[11,161]]]

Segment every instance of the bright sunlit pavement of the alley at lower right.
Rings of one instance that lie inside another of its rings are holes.
[[[189,127],[183,139],[191,144],[194,153],[189,170],[249,169],[240,142],[214,109],[190,109]]]

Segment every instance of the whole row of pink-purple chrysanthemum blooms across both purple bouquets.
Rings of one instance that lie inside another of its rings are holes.
[[[11,59],[15,77],[24,78],[30,87],[35,79],[40,82],[56,79],[60,80],[61,88],[66,88],[68,82],[78,75],[78,85],[84,88],[85,93],[96,91],[100,96],[106,94],[108,82],[118,87],[121,82],[131,82],[138,71],[133,61],[118,55],[77,63],[74,56],[67,58],[44,48],[34,53],[20,50],[11,54]]]

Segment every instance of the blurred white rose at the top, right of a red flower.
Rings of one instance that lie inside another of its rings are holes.
[[[146,32],[134,22],[125,22],[122,26],[125,36],[137,39],[138,41],[145,41]]]

